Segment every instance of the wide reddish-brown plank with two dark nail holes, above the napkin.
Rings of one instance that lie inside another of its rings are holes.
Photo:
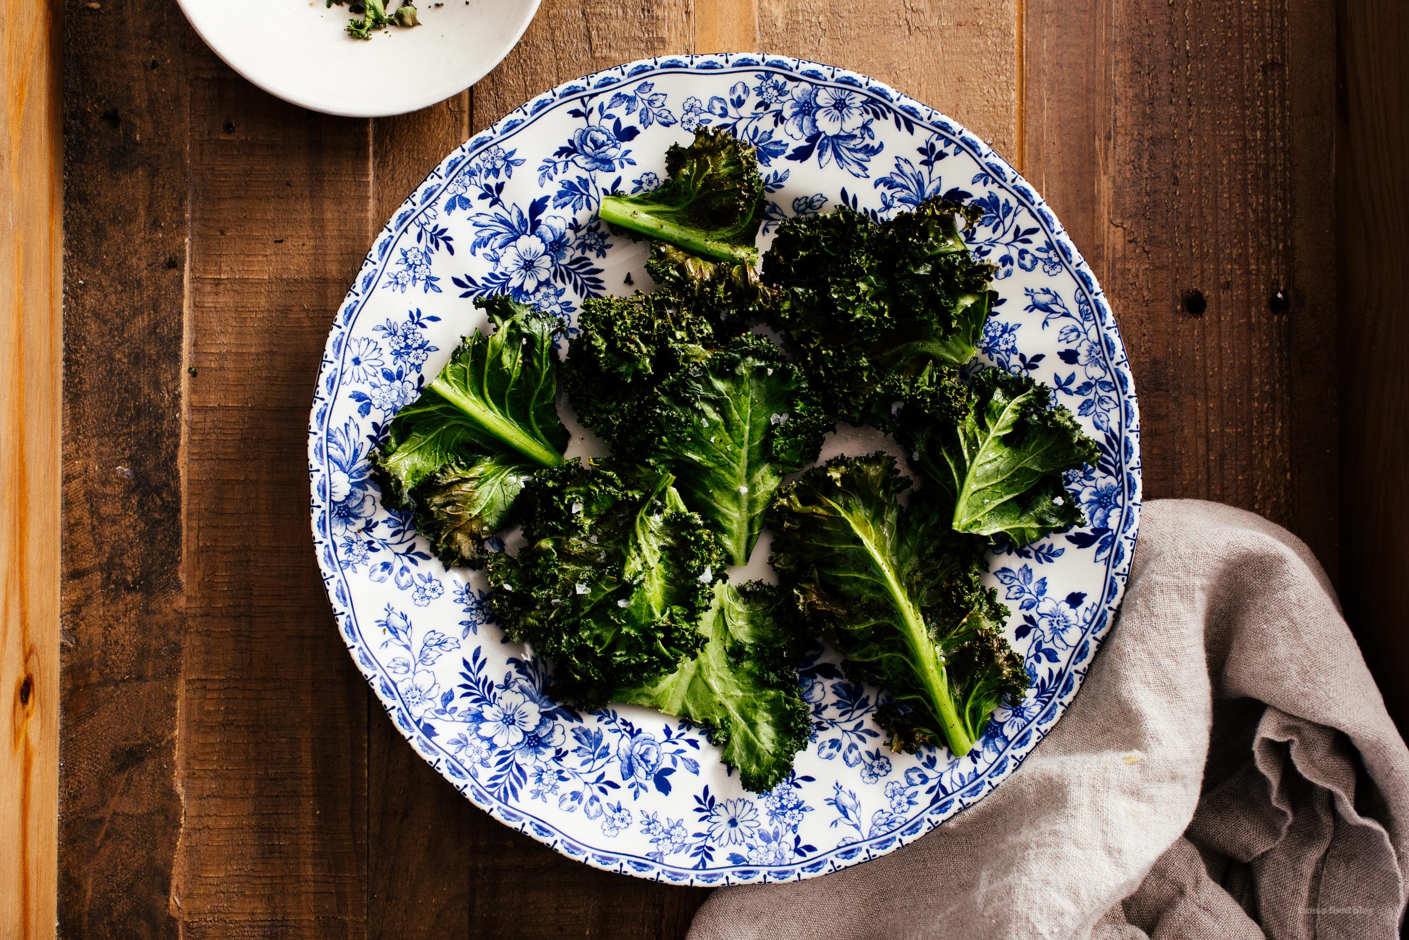
[[[1027,176],[1130,352],[1146,497],[1262,513],[1334,575],[1329,17],[1029,0],[1023,111]]]

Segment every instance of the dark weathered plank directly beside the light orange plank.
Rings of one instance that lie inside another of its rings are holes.
[[[176,937],[186,21],[63,25],[61,933]]]

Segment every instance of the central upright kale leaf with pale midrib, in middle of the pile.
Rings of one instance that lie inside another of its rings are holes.
[[[745,334],[640,400],[616,454],[671,469],[685,505],[714,524],[743,565],[783,474],[817,459],[833,424],[802,371],[764,337]]]

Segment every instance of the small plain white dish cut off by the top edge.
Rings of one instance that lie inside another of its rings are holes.
[[[200,38],[265,92],[347,117],[404,114],[464,92],[509,55],[540,0],[431,0],[421,25],[371,39],[324,0],[179,0]]]

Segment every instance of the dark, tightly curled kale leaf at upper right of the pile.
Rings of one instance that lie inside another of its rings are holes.
[[[886,223],[838,207],[783,221],[764,258],[771,321],[840,419],[889,431],[890,404],[916,382],[957,382],[995,299],[993,265],[975,261],[941,199]],[[947,375],[947,378],[945,378]]]

